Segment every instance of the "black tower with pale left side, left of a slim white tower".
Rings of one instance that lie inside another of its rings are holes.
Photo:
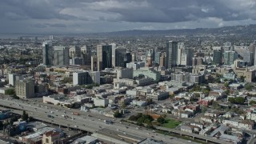
[[[112,65],[112,50],[114,45],[98,45],[97,46],[97,66],[98,70],[111,68]]]

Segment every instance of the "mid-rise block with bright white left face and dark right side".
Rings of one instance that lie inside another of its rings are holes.
[[[88,72],[86,71],[79,71],[73,73],[73,85],[86,85],[87,84],[87,77],[88,77]]]

